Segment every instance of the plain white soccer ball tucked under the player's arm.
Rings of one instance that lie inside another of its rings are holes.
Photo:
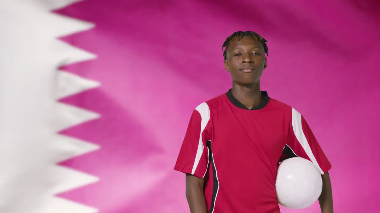
[[[322,177],[312,162],[294,157],[280,163],[275,186],[280,205],[301,209],[312,205],[321,195]]]

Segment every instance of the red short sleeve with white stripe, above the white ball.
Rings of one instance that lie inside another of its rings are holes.
[[[288,146],[298,157],[306,158],[317,167],[321,174],[331,169],[331,164],[318,144],[304,117],[292,108],[292,120]]]

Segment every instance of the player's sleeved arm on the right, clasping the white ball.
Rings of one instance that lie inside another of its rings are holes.
[[[321,212],[333,213],[331,181],[328,174],[331,164],[304,117],[293,108],[288,143],[295,155],[309,159],[320,171],[323,181],[322,193],[318,199]]]

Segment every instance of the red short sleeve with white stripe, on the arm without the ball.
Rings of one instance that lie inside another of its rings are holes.
[[[199,105],[190,118],[174,170],[204,178],[209,166],[205,128],[210,120],[206,103]]]

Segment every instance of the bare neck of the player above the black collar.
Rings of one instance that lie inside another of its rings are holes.
[[[260,82],[252,85],[233,83],[231,92],[233,96],[248,109],[256,107],[261,101]]]

